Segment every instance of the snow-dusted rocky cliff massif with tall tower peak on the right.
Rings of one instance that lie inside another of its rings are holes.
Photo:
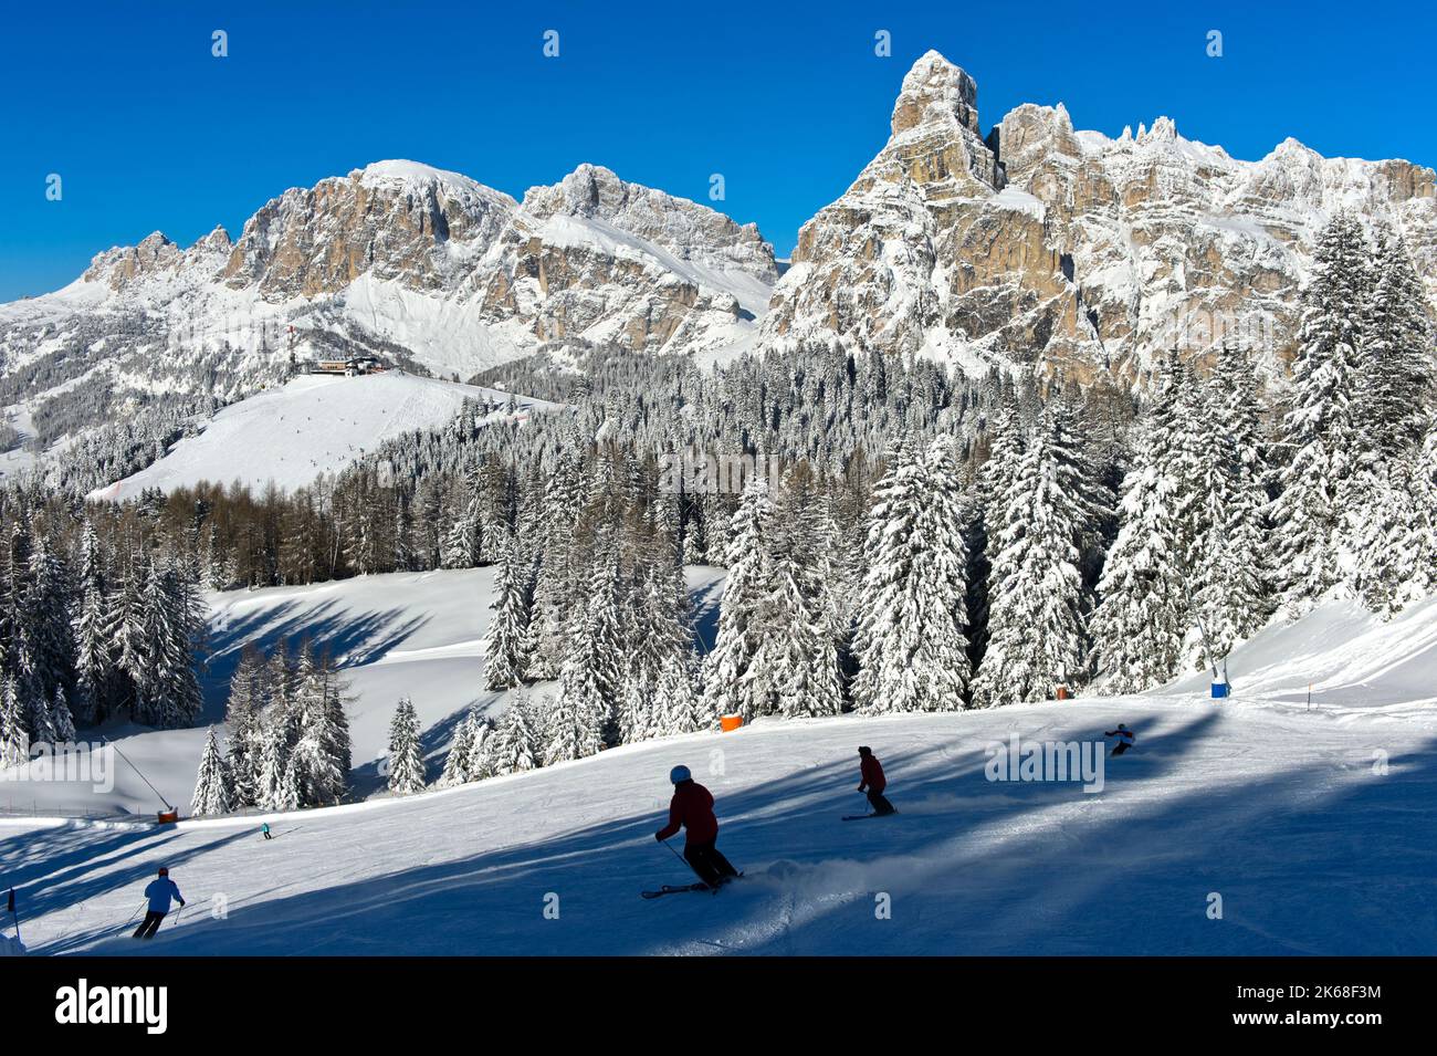
[[[1437,290],[1433,170],[1322,158],[1286,141],[1257,162],[1168,118],[1118,139],[1023,105],[980,136],[973,79],[930,52],[892,135],[799,234],[762,346],[881,345],[967,369],[1078,381],[1224,341],[1290,356],[1296,295],[1338,208],[1400,228]]]

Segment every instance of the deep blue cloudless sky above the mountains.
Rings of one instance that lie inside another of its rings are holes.
[[[1421,6],[106,0],[0,13],[0,300],[162,230],[181,244],[286,187],[381,158],[514,197],[583,161],[757,221],[786,254],[888,134],[928,47],[979,83],[984,131],[1020,102],[1117,135],[1160,114],[1259,158],[1437,164]],[[228,32],[230,56],[210,55]],[[560,56],[540,53],[560,33]],[[874,33],[894,55],[875,57]],[[1210,29],[1224,56],[1206,55]],[[47,174],[63,200],[46,201]]]

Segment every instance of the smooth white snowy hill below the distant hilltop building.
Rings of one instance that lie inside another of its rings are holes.
[[[270,481],[280,490],[303,487],[385,440],[440,428],[458,414],[464,399],[507,404],[510,394],[401,372],[299,376],[226,407],[200,435],[181,440],[160,461],[92,497],[129,499],[148,487],[171,491],[203,480],[239,480],[256,490]],[[523,418],[555,407],[527,397],[513,399],[517,412],[502,407],[490,420]]]

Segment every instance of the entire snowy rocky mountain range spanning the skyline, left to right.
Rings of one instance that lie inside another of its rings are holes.
[[[1430,168],[1295,139],[1239,161],[1170,118],[1114,139],[1076,131],[1061,102],[984,135],[973,78],[928,52],[888,142],[803,226],[782,277],[753,224],[598,165],[516,201],[381,161],[285,191],[237,238],[157,231],[0,306],[0,405],[234,399],[295,335],[461,378],[555,342],[701,362],[836,342],[1086,381],[1226,341],[1277,375],[1316,230],[1339,208],[1400,230],[1437,292]]]

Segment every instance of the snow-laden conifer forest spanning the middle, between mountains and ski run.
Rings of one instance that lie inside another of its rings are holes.
[[[1220,668],[1334,592],[1391,616],[1437,588],[1430,306],[1401,240],[1349,216],[1321,236],[1290,381],[1240,348],[1082,389],[839,348],[716,371],[592,351],[578,368],[496,368],[477,381],[566,407],[520,427],[468,405],[289,494],[0,493],[0,731],[193,721],[180,658],[203,586],[494,566],[476,695],[513,705],[463,718],[444,784],[727,714],[1135,693]],[[696,451],[780,473],[674,487]],[[707,649],[685,565],[727,572]],[[201,766],[230,777],[195,810],[342,797],[333,670],[302,651],[241,671],[228,751],[207,744]],[[401,795],[424,782],[414,721],[401,703]]]

